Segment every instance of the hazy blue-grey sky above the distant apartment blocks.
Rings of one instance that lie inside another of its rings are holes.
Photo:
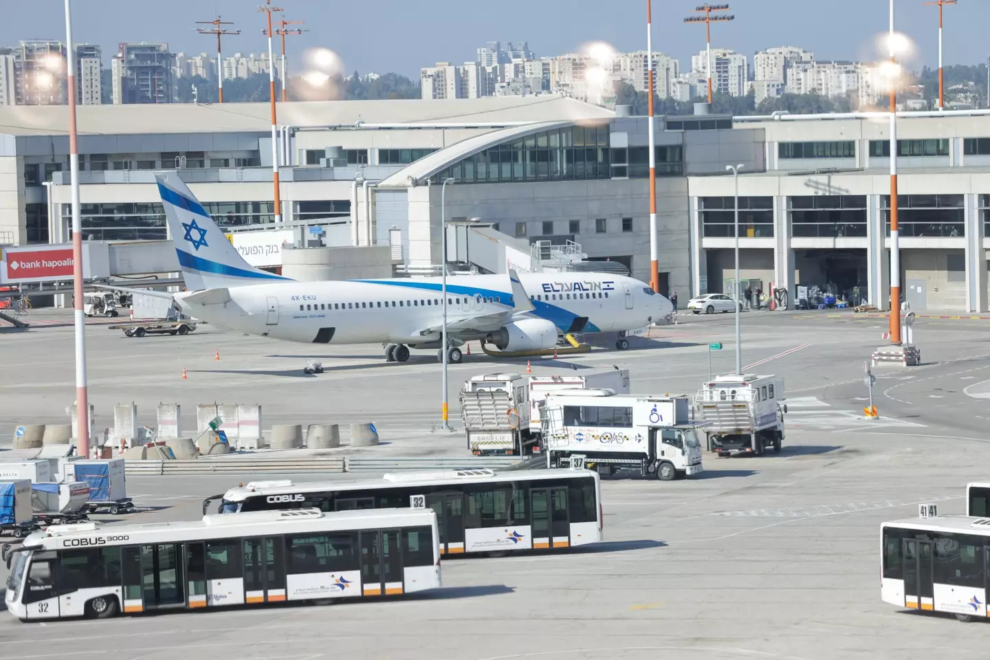
[[[191,30],[196,21],[220,13],[242,34],[225,40],[224,51],[260,52],[263,0],[72,0],[77,42],[103,47],[104,66],[119,42],[168,42],[176,52],[211,52],[216,41]],[[896,0],[898,30],[917,46],[913,68],[938,62],[938,8],[923,0]],[[397,71],[418,75],[439,60],[463,62],[487,41],[528,41],[537,55],[572,52],[591,41],[620,50],[645,47],[642,0],[273,0],[287,20],[302,20],[309,32],[287,40],[293,53],[328,47],[347,71]],[[703,26],[682,19],[694,0],[653,0],[653,45],[690,67],[690,55],[705,46]],[[713,3],[714,4],[714,3]],[[5,3],[0,45],[22,39],[64,39],[61,0]],[[714,47],[752,55],[773,46],[798,46],[819,59],[872,59],[874,39],[887,29],[886,0],[736,0],[736,21],[713,25]],[[986,30],[990,0],[959,0],[945,8],[946,64],[977,63],[990,54]],[[298,27],[298,26],[297,26]],[[276,42],[276,51],[278,44]]]

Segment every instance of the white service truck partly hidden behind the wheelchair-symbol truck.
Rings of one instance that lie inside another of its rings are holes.
[[[629,369],[563,375],[492,373],[474,376],[460,393],[467,446],[476,455],[523,455],[542,450],[541,407],[550,392],[585,388],[629,393]]]

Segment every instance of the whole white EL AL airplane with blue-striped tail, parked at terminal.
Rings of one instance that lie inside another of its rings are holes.
[[[410,348],[443,359],[442,285],[437,277],[297,282],[252,267],[196,201],[177,173],[155,175],[188,292],[182,312],[203,321],[288,341],[385,345],[388,361]],[[552,348],[570,332],[615,332],[647,326],[672,311],[670,301],[631,277],[601,273],[447,277],[447,360],[465,341],[499,350]]]

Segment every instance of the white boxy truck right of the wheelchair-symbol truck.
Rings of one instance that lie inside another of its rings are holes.
[[[779,452],[784,402],[784,379],[778,376],[717,376],[695,395],[695,419],[707,424],[706,447],[719,456]]]

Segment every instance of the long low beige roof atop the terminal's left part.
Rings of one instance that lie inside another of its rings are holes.
[[[365,124],[470,124],[608,118],[613,112],[555,95],[436,101],[292,101],[278,104],[278,124],[293,127]],[[80,105],[79,135],[255,133],[271,130],[267,103]],[[68,106],[0,107],[0,134],[68,133]]]

